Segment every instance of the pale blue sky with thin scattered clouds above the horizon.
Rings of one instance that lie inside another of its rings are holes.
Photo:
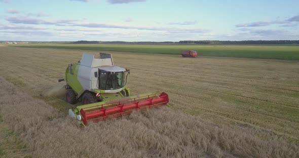
[[[298,0],[0,0],[0,41],[299,40],[298,6]]]

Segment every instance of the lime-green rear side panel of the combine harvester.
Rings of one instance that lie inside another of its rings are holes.
[[[68,67],[65,71],[65,79],[67,81],[67,84],[76,92],[77,94],[82,94],[84,92],[83,87],[81,86],[79,80],[78,80],[78,71],[79,71],[80,65],[73,64],[73,73],[68,73]]]

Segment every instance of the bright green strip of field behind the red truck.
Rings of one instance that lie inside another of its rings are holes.
[[[179,55],[181,50],[195,50],[199,56],[238,57],[259,59],[299,60],[298,45],[74,45],[74,44],[20,44],[32,48],[57,48],[91,51],[114,51]]]

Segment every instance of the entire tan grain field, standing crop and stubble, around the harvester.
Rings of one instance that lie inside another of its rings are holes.
[[[133,94],[166,91],[170,107],[82,129],[66,116],[71,105],[55,95],[63,85],[57,79],[83,52],[0,49],[0,116],[5,128],[0,132],[8,135],[0,137],[0,156],[299,155],[296,61],[113,52],[117,65],[131,69],[128,86]],[[14,153],[16,148],[20,152]]]

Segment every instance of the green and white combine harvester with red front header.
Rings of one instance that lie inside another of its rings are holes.
[[[93,54],[83,53],[80,61],[68,65],[65,79],[58,80],[66,81],[65,100],[82,104],[69,109],[69,116],[87,125],[169,102],[165,92],[130,96],[126,86],[129,74],[129,69],[114,65],[111,54],[100,53],[100,57],[95,58]]]

